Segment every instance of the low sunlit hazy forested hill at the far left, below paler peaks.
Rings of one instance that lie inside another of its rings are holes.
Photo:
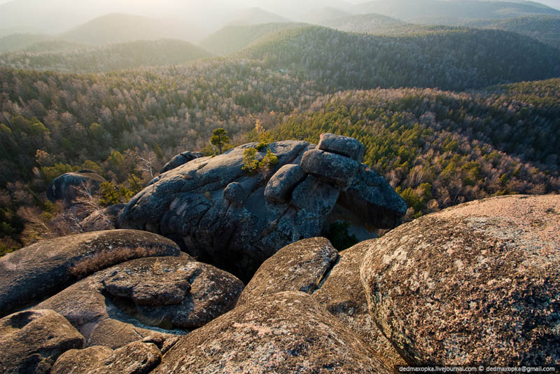
[[[37,52],[23,50],[5,53],[0,55],[0,66],[13,69],[89,73],[184,64],[204,57],[211,57],[211,54],[202,48],[186,41],[172,39],[131,41],[101,47],[79,46],[53,50],[52,47],[56,47],[57,44],[67,46],[64,42],[52,42],[50,48],[46,50],[38,50]],[[31,48],[34,46],[31,46]]]

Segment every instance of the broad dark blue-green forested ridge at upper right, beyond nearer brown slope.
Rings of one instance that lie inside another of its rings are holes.
[[[560,73],[555,48],[498,30],[370,36],[307,27],[281,32],[242,55],[337,90],[411,86],[465,90]]]

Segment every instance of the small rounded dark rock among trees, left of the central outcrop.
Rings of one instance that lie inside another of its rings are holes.
[[[52,202],[64,200],[66,203],[71,203],[80,195],[80,191],[84,187],[94,193],[99,189],[101,183],[105,182],[103,176],[87,169],[62,174],[50,182],[47,188],[47,198]]]

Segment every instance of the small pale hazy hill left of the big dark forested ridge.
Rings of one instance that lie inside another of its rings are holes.
[[[302,27],[301,23],[265,23],[252,26],[226,26],[204,39],[200,46],[216,55],[231,55],[247,48],[263,36],[283,29]]]

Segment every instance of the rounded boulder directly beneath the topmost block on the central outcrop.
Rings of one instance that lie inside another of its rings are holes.
[[[302,169],[307,174],[313,174],[328,183],[332,183],[342,191],[351,185],[354,176],[360,169],[359,162],[351,158],[311,149],[303,154]]]

